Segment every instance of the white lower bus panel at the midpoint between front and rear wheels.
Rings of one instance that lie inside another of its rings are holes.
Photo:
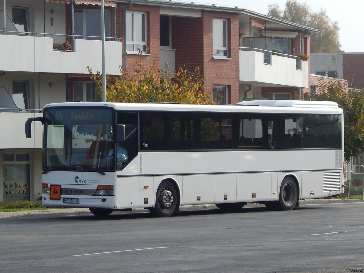
[[[215,176],[215,203],[236,202],[237,174],[217,174]],[[227,199],[224,199],[226,195]]]

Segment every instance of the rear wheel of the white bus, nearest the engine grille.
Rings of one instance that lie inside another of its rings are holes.
[[[292,177],[285,177],[279,191],[278,205],[282,210],[292,210],[297,203],[298,188]]]

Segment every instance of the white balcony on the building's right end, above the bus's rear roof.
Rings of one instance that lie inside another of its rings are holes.
[[[240,82],[272,87],[308,88],[308,62],[258,48],[239,48]]]

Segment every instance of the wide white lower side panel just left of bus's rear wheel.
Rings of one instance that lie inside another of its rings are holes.
[[[270,201],[272,197],[272,174],[238,174],[236,196],[237,202]]]

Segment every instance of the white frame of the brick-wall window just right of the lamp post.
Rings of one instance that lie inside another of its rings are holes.
[[[136,34],[137,34],[137,29],[135,26],[135,15],[140,14],[140,15],[144,15],[144,24],[143,21],[139,22],[139,25],[141,26],[142,29],[139,29],[139,31],[141,32],[141,36],[142,39],[144,38],[144,41],[139,41],[136,40]],[[147,13],[146,12],[140,12],[140,11],[127,11],[126,12],[127,15],[127,28],[126,28],[126,45],[125,46],[130,46],[132,45],[132,50],[128,50],[128,47],[126,49],[127,53],[139,53],[139,50],[141,53],[147,53]],[[131,15],[131,17],[130,17]],[[129,32],[128,26],[131,26],[131,33]],[[144,35],[143,35],[144,32]],[[128,36],[131,36],[131,40],[128,40]]]

